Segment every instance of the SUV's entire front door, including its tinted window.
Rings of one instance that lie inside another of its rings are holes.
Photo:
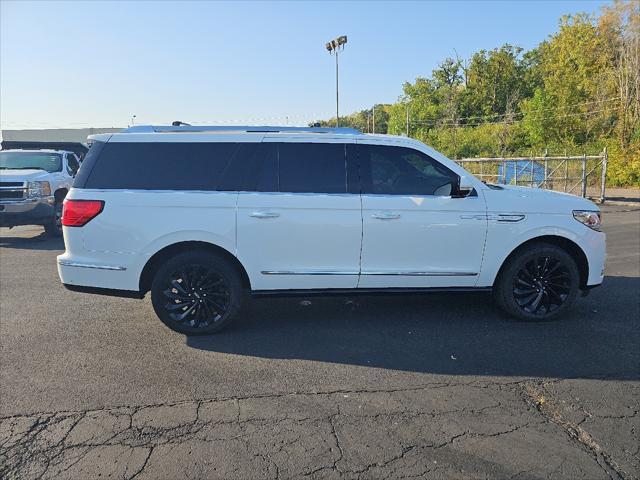
[[[361,288],[470,287],[487,231],[484,198],[454,198],[458,176],[423,152],[358,145]]]

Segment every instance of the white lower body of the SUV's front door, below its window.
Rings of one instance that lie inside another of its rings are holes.
[[[487,220],[479,197],[363,195],[359,287],[469,287]]]

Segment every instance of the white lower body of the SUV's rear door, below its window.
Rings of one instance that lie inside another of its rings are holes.
[[[240,193],[238,259],[254,290],[355,288],[358,195]]]

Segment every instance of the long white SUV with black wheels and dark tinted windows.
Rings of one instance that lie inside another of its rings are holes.
[[[600,285],[590,201],[485,185],[403,137],[349,129],[132,127],[95,135],[65,201],[71,290],[142,298],[211,333],[245,293],[490,290],[521,319]]]

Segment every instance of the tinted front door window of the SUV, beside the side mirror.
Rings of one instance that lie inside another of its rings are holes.
[[[422,152],[363,145],[363,192],[388,195],[451,195],[457,175]]]

